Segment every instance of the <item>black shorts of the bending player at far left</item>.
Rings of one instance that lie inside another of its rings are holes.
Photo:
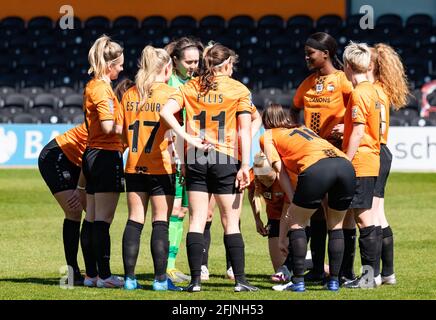
[[[76,189],[80,167],[68,160],[55,139],[41,150],[38,168],[52,194]]]

